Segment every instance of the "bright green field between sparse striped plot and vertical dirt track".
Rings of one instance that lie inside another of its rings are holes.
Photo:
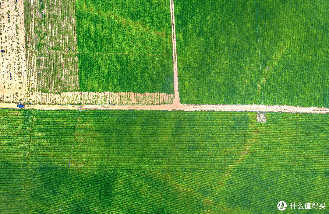
[[[79,86],[173,93],[169,0],[76,0]]]

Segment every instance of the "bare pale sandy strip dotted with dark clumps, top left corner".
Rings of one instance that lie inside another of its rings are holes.
[[[23,1],[1,1],[0,100],[25,101],[27,75]]]

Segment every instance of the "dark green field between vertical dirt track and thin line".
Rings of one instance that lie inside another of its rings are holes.
[[[175,3],[182,103],[261,103],[255,4]]]

